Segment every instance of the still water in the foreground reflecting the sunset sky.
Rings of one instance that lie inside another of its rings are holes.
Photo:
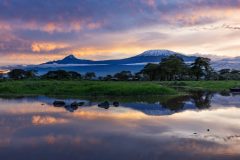
[[[1,160],[240,159],[239,95],[122,99],[109,108],[55,100],[0,98]]]

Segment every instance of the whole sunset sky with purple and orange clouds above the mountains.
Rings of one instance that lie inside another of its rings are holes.
[[[149,49],[240,56],[240,0],[0,0],[0,65]]]

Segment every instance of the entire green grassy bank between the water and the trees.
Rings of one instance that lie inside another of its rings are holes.
[[[187,91],[224,91],[240,81],[105,82],[105,81],[2,81],[1,95],[144,96],[177,95]],[[177,88],[177,89],[176,89]]]

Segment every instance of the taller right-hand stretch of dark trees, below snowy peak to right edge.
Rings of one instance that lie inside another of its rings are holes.
[[[147,64],[140,72],[147,80],[240,80],[239,70],[222,69],[215,71],[209,58],[198,57],[191,64],[172,55],[159,64]]]

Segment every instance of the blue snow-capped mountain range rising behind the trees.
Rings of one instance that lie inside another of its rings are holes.
[[[197,58],[197,56],[187,56],[170,50],[148,50],[130,58],[100,61],[78,59],[74,55],[69,55],[61,60],[50,61],[40,65],[31,65],[25,67],[25,69],[34,69],[40,75],[50,70],[62,69],[82,74],[95,72],[98,76],[106,76],[123,70],[136,73],[143,69],[147,63],[159,63],[163,58],[170,55],[181,57],[187,64],[192,63]],[[239,57],[212,61],[212,66],[216,70],[223,68],[240,69]]]

